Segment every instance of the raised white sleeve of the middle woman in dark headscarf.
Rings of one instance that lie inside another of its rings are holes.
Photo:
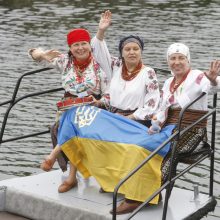
[[[106,73],[108,80],[112,78],[112,59],[109,53],[106,42],[99,40],[96,36],[91,40],[93,56],[97,63],[101,66]]]

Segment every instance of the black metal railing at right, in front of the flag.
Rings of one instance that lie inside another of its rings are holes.
[[[189,103],[187,106],[185,106],[179,114],[179,120],[177,124],[177,130],[163,143],[161,144],[157,149],[155,149],[145,160],[143,160],[134,170],[132,170],[126,177],[124,177],[115,187],[114,193],[113,193],[113,214],[112,214],[112,220],[116,220],[116,208],[117,208],[117,195],[119,188],[128,180],[130,179],[138,170],[140,170],[146,163],[148,163],[162,148],[166,146],[167,143],[173,141],[172,146],[172,152],[171,152],[171,168],[169,170],[168,175],[168,181],[166,181],[158,190],[156,190],[145,202],[143,202],[137,209],[135,209],[126,219],[131,219],[133,216],[135,216],[144,206],[146,206],[155,196],[159,195],[162,190],[166,189],[166,195],[165,195],[165,202],[163,206],[163,214],[162,214],[162,220],[166,219],[167,214],[167,207],[169,202],[169,197],[172,190],[172,185],[175,182],[176,179],[181,177],[183,174],[188,172],[190,169],[195,167],[198,163],[206,159],[207,157],[210,157],[210,187],[209,187],[209,195],[213,195],[213,175],[214,175],[214,150],[215,150],[215,125],[216,125],[216,105],[217,105],[217,94],[213,96],[213,106],[209,106],[209,111],[202,116],[200,119],[196,120],[194,123],[192,123],[190,126],[187,126],[183,130],[181,130],[181,123],[182,118],[184,115],[184,112],[196,101],[198,101],[200,98],[202,98],[206,93],[202,93],[200,96],[198,96],[196,99],[194,99],[191,103]],[[187,132],[189,129],[191,129],[193,126],[201,122],[202,120],[208,118],[210,115],[212,115],[212,132],[211,132],[211,149],[212,151],[207,153],[206,155],[199,158],[195,163],[189,165],[187,168],[182,170],[178,175],[172,176],[172,166],[174,161],[174,156],[176,153],[176,146],[181,138],[181,136]]]

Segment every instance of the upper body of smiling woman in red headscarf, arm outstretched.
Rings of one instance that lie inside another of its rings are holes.
[[[74,29],[67,34],[68,54],[56,50],[29,50],[32,58],[61,72],[65,95],[100,97],[107,87],[107,77],[93,57],[90,34],[85,29]]]

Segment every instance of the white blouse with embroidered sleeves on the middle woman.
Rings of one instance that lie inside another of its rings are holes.
[[[104,98],[105,105],[122,110],[135,110],[135,119],[150,119],[158,107],[160,92],[156,73],[151,67],[144,66],[138,75],[126,81],[122,78],[122,62],[111,57],[105,41],[94,37],[91,42],[93,55],[111,79],[107,89],[110,100]]]

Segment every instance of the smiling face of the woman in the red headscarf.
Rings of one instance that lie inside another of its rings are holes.
[[[79,41],[70,46],[70,51],[78,61],[84,61],[89,57],[91,46],[87,41]]]

